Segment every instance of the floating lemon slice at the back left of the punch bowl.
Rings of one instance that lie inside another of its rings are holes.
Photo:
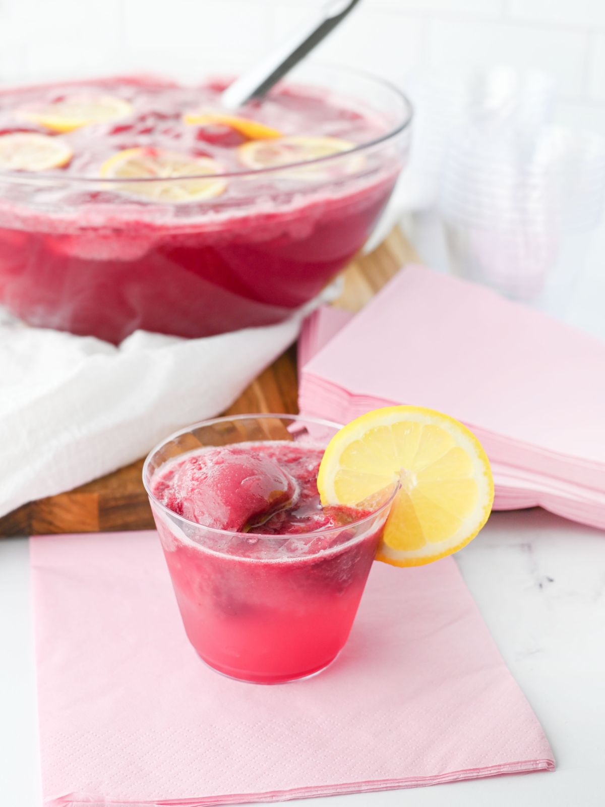
[[[52,129],[52,132],[73,132],[90,123],[106,123],[132,114],[131,103],[113,95],[92,98],[65,98],[45,107],[22,110],[19,117]]]

